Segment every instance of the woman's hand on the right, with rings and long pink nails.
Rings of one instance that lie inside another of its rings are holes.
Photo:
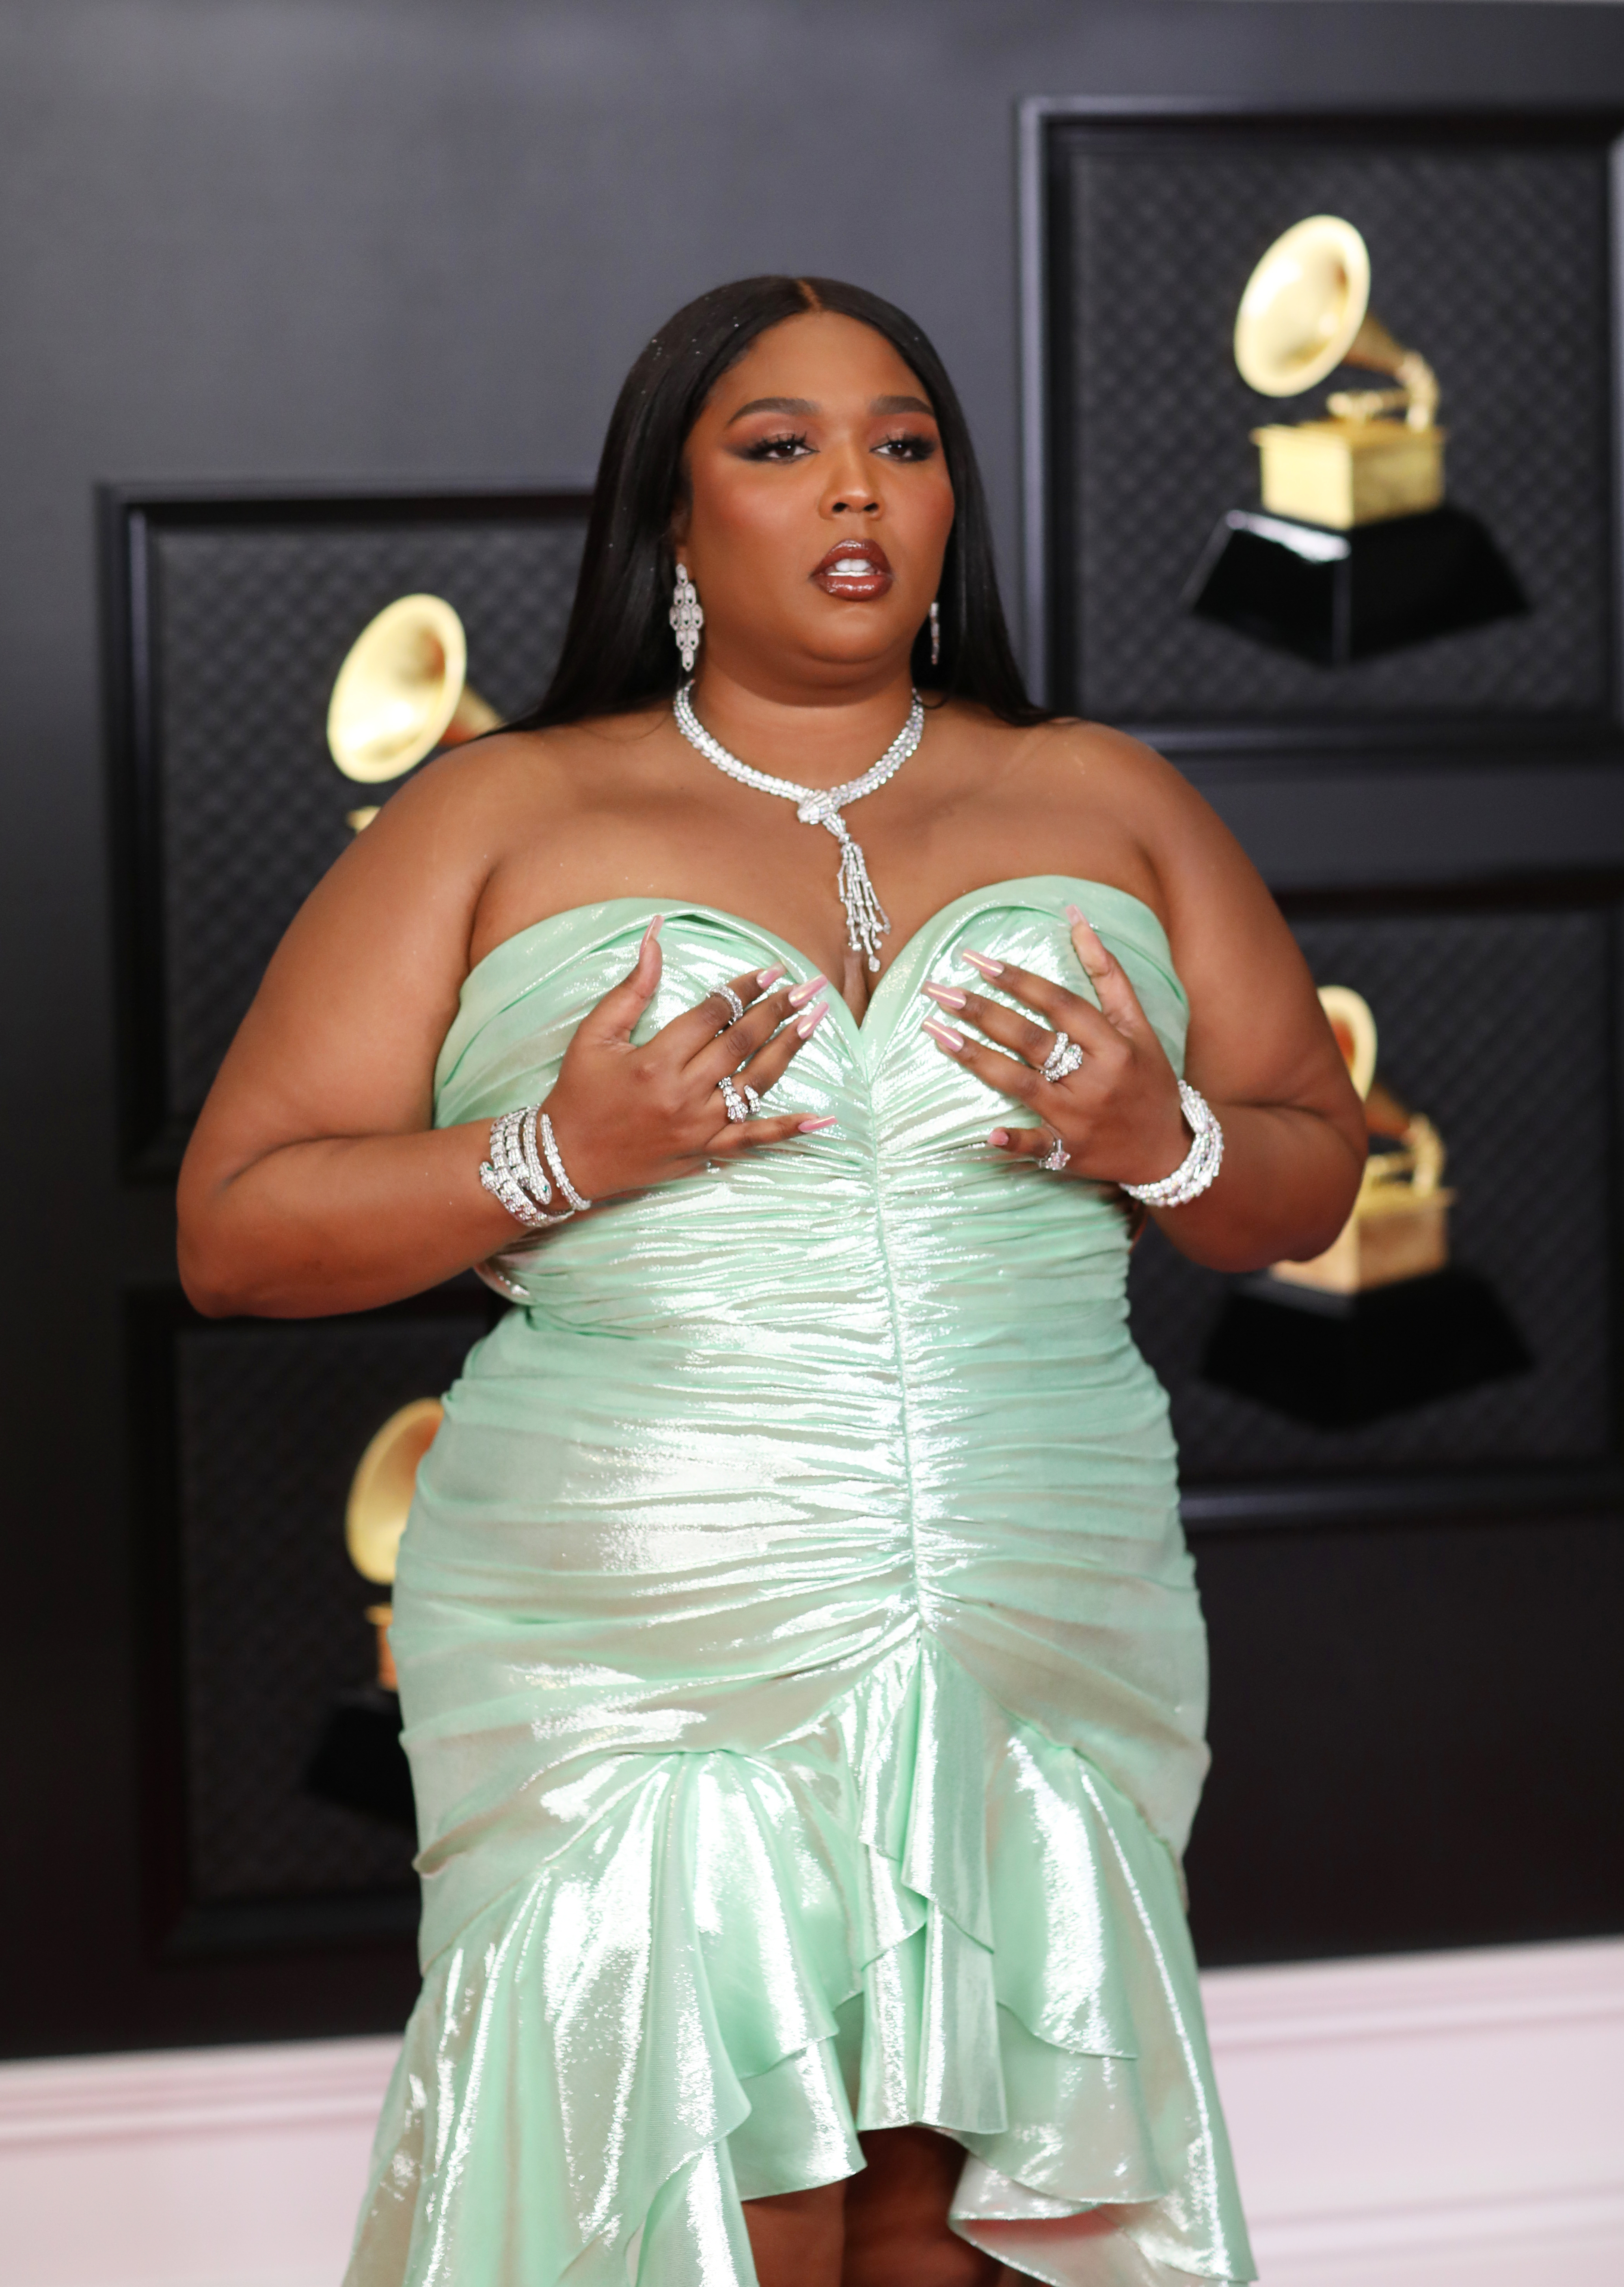
[[[1105,951],[1075,906],[1066,908],[1066,919],[1073,924],[1077,958],[1100,995],[1098,1009],[1048,977],[965,947],[958,958],[1032,1009],[1038,1022],[979,993],[924,986],[942,1011],[940,1018],[926,1018],[924,1029],[988,1089],[1013,1095],[1041,1121],[1034,1127],[990,1132],[988,1144],[1006,1160],[1048,1160],[1059,1139],[1073,1176],[1093,1182],[1157,1182],[1189,1153],[1178,1077],[1121,963]],[[974,1027],[997,1041],[997,1047],[984,1047],[963,1027]],[[1082,1061],[1064,1077],[1045,1079],[1043,1063],[1061,1031],[1082,1050]]]

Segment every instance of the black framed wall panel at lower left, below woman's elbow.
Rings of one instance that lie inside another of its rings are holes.
[[[334,1706],[375,1672],[343,1541],[371,1436],[439,1397],[499,1306],[467,1278],[334,1320],[210,1322],[130,1297],[146,1583],[146,1891],[160,1958],[416,1928],[412,1836],[311,1788]]]

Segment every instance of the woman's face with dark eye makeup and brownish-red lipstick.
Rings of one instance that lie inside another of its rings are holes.
[[[711,391],[686,469],[672,540],[702,666],[771,688],[906,663],[954,487],[920,377],[881,334],[830,311],[762,334]]]

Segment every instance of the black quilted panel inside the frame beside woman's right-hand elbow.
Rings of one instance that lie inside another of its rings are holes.
[[[1132,1322],[1173,1400],[1187,1482],[1603,1459],[1617,1441],[1608,915],[1317,919],[1297,938],[1317,983],[1366,995],[1384,1077],[1443,1134],[1452,1258],[1494,1283],[1535,1370],[1368,1429],[1308,1429],[1201,1381],[1224,1278],[1151,1230]]]

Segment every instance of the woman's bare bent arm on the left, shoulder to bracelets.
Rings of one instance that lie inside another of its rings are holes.
[[[361,1310],[515,1237],[487,1125],[432,1130],[489,860],[473,757],[403,787],[281,940],[181,1169],[199,1310]]]

